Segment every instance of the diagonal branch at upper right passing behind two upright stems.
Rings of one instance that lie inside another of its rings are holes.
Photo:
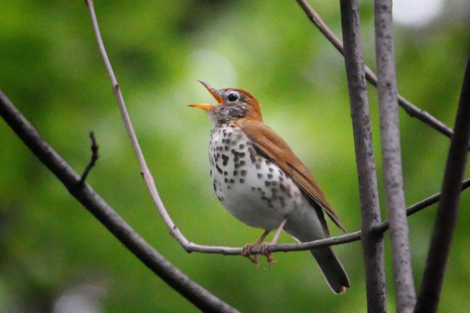
[[[306,0],[297,0],[299,5],[304,10],[305,14],[307,15],[308,19],[315,24],[315,26],[320,30],[320,32],[329,40],[329,42],[335,46],[335,48],[344,55],[344,47],[341,41],[334,35],[334,33],[329,29],[327,24],[322,21],[320,16],[318,15],[315,10],[308,4]],[[377,77],[376,74],[367,66],[365,66],[365,73],[366,79],[371,83],[373,86],[377,87]],[[398,95],[398,103],[400,106],[405,110],[408,115],[411,117],[416,117],[417,119],[421,120],[422,122],[426,123],[430,127],[434,128],[436,131],[440,132],[441,134],[446,135],[447,137],[452,136],[452,129],[447,127],[446,124],[432,116],[426,111],[421,110],[420,108],[413,105],[411,102],[403,98],[402,96]]]

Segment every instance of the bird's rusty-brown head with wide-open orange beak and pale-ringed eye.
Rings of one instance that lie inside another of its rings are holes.
[[[203,109],[212,124],[220,125],[240,118],[262,122],[258,100],[248,91],[237,88],[214,89],[209,84],[198,81],[217,100],[217,104],[190,104],[189,107]]]

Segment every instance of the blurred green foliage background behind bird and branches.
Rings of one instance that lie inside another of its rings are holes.
[[[196,79],[257,96],[265,122],[311,169],[346,228],[359,229],[344,61],[294,0],[96,2],[141,147],[171,217],[190,241],[242,246],[261,234],[213,195],[211,125],[186,106],[213,99]],[[310,1],[341,37],[336,2]],[[372,2],[360,1],[360,13],[365,59],[374,69]],[[398,84],[403,96],[453,126],[469,7],[463,0],[440,3],[425,22],[397,21]],[[352,285],[341,296],[331,293],[307,252],[278,253],[269,268],[264,260],[257,268],[242,257],[187,254],[168,235],[141,179],[84,2],[1,1],[0,12],[0,89],[77,172],[89,161],[88,132],[95,132],[100,159],[88,182],[169,261],[242,312],[365,312],[358,242],[335,247]],[[369,91],[385,218],[377,96]],[[401,109],[400,128],[410,205],[440,190],[449,140]],[[0,312],[196,311],[75,201],[3,121],[0,143]],[[470,281],[469,204],[466,191],[440,312],[470,306],[463,292]],[[435,209],[409,219],[417,289]],[[331,223],[330,230],[340,234]],[[282,235],[281,242],[292,240]],[[393,312],[388,233],[386,249]]]

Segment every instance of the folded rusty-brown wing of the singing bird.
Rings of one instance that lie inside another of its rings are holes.
[[[267,157],[288,174],[304,194],[317,203],[328,214],[333,223],[346,233],[346,229],[329,205],[312,174],[304,163],[295,156],[289,145],[262,122],[245,120],[238,122],[238,125],[253,140],[254,148],[258,150],[258,153]],[[326,228],[326,225],[324,225],[324,228]]]

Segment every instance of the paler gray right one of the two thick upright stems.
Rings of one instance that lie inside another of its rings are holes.
[[[411,269],[408,219],[401,169],[392,0],[375,0],[374,9],[382,166],[390,223],[397,312],[411,313],[415,307],[416,293]]]

